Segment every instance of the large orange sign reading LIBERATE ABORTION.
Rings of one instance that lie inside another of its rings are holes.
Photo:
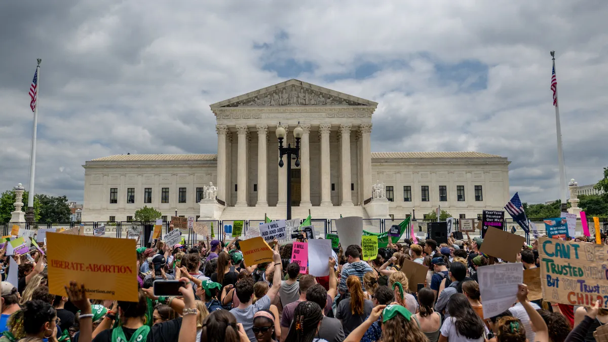
[[[89,299],[136,302],[136,242],[131,239],[97,239],[47,233],[49,292],[67,296],[70,281],[85,284]]]

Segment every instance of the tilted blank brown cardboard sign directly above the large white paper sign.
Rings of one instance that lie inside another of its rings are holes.
[[[526,238],[523,236],[489,227],[479,251],[508,262],[516,262],[517,253],[522,250],[525,241]]]

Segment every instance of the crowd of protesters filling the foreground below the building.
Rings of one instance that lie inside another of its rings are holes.
[[[512,307],[485,317],[477,268],[502,261],[480,253],[483,239],[467,237],[389,242],[371,260],[361,259],[359,245],[340,246],[326,277],[300,273],[292,243],[275,240],[272,262],[246,265],[238,238],[207,237],[191,248],[157,241],[136,251],[137,302],[89,300],[74,282],[66,296],[49,294],[38,250],[10,256],[19,269],[11,284],[2,250],[0,342],[595,341],[595,330],[608,323],[599,301],[531,302],[523,284]],[[539,267],[537,246],[522,246],[523,268]],[[428,268],[415,293],[406,260]],[[184,282],[182,295],[154,296],[154,282],[171,279]]]

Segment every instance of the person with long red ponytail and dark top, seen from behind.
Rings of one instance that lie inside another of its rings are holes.
[[[365,318],[370,315],[371,309],[373,309],[371,301],[365,299],[358,276],[349,276],[346,279],[346,286],[350,293],[350,298],[341,301],[336,310],[336,318],[342,321],[344,335],[348,335],[363,323]]]

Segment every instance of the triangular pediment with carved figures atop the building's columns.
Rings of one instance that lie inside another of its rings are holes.
[[[370,106],[376,108],[378,103],[291,79],[210,105],[212,110],[222,107],[246,106]]]

